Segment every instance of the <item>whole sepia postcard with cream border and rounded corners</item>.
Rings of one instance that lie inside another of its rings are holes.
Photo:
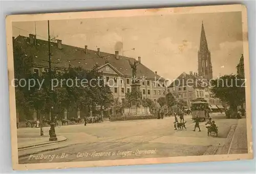
[[[15,170],[253,159],[243,5],[6,17]]]

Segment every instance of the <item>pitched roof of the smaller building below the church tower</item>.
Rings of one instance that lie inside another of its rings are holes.
[[[180,87],[180,86],[193,86],[194,88],[205,88],[209,82],[207,79],[201,76],[196,76],[194,74],[181,73],[178,78],[173,81],[169,87]]]

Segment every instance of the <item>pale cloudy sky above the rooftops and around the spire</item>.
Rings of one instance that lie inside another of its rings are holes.
[[[124,56],[141,56],[142,64],[174,80],[182,72],[198,72],[202,21],[214,78],[236,74],[243,53],[241,12],[58,20],[50,21],[50,35],[91,50],[122,55],[123,49]],[[47,21],[13,23],[15,37],[35,31],[37,38],[47,40]]]

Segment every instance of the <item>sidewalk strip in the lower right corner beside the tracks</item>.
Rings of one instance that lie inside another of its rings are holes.
[[[229,154],[247,153],[246,119],[240,119],[228,149]]]

